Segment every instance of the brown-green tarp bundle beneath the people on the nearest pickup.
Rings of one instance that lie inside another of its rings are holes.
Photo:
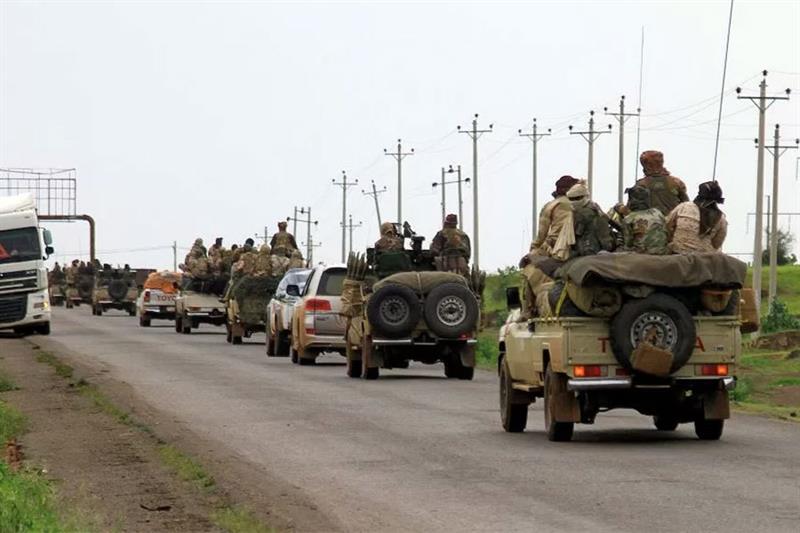
[[[598,254],[564,264],[560,277],[579,286],[622,283],[653,287],[713,286],[740,289],[747,265],[722,253],[645,255]]]

